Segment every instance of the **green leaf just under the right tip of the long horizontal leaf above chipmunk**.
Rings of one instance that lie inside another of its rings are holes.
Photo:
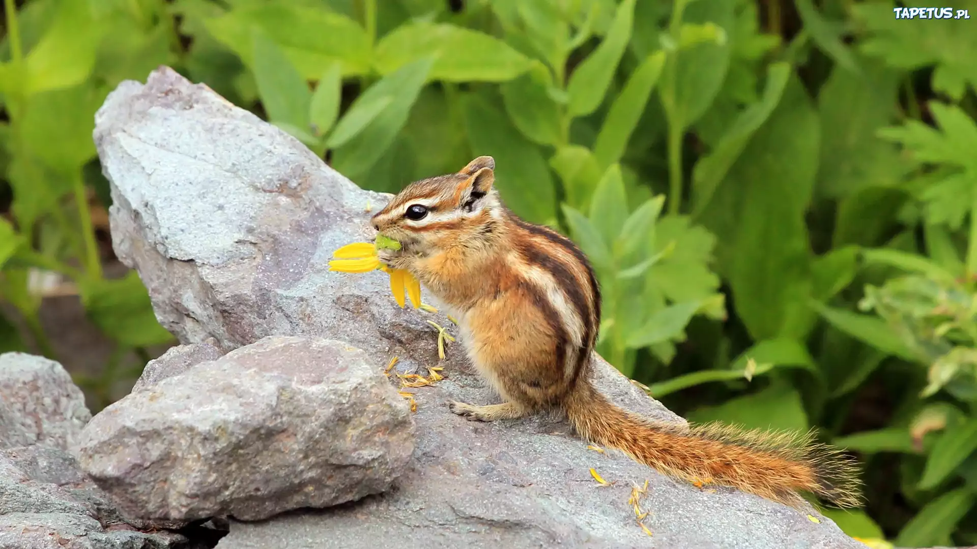
[[[540,63],[502,84],[502,100],[509,118],[539,145],[556,145],[563,139],[560,108],[549,90],[553,86],[550,73]]]

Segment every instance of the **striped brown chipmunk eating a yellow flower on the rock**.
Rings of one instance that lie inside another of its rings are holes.
[[[562,408],[584,440],[672,477],[798,509],[798,491],[841,507],[860,504],[853,464],[813,433],[655,422],[601,395],[590,379],[601,319],[590,263],[569,238],[507,209],[492,186],[494,169],[490,156],[479,156],[456,174],[411,183],[371,220],[402,244],[381,250],[381,262],[413,274],[446,305],[468,358],[502,398],[481,406],[451,401],[452,412],[494,421]]]

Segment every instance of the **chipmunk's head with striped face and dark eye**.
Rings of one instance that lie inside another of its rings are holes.
[[[456,174],[415,181],[373,216],[373,228],[422,254],[486,241],[503,214],[494,169],[491,156],[479,156]]]

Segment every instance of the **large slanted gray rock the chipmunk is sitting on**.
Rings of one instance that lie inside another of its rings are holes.
[[[391,298],[382,273],[326,271],[331,253],[371,236],[358,189],[296,140],[161,68],[106,100],[95,132],[112,186],[116,253],[149,286],[157,316],[185,344],[224,349],[268,335],[344,341],[399,372],[437,362],[447,320]],[[477,151],[476,151],[477,152]],[[233,523],[221,549],[280,547],[856,548],[828,519],[729,489],[668,480],[614,452],[587,449],[560,419],[478,424],[445,401],[494,401],[448,347],[446,380],[411,389],[417,443],[395,489],[323,511]],[[597,385],[614,401],[681,421],[601,359]],[[396,379],[396,378],[395,378]],[[612,486],[598,486],[593,467]],[[269,471],[267,474],[278,474]],[[649,481],[642,509],[631,484]]]

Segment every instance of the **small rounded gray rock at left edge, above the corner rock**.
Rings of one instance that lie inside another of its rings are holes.
[[[66,449],[91,418],[61,364],[23,353],[0,355],[0,449],[35,443]]]

